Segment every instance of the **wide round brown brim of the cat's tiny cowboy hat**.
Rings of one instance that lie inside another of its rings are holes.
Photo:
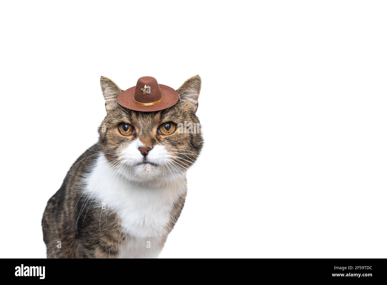
[[[142,106],[134,102],[134,91],[136,86],[133,86],[129,89],[123,91],[117,98],[118,104],[134,111],[141,112],[154,112],[160,111],[173,106],[179,101],[179,94],[177,91],[169,86],[159,84],[161,94],[163,94],[163,99],[160,103],[150,106]]]

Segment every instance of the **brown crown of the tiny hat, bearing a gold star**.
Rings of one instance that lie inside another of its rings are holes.
[[[134,100],[138,103],[148,104],[161,100],[163,95],[156,78],[143,76],[137,80],[134,91]]]

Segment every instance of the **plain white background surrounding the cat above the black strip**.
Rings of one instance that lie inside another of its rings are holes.
[[[105,115],[101,75],[200,74],[205,145],[162,258],[386,258],[387,9],[378,1],[1,4],[1,257]]]

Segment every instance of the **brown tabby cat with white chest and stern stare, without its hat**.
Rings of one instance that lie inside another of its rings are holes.
[[[47,258],[157,258],[183,209],[186,172],[203,146],[202,134],[178,132],[195,115],[201,79],[157,112],[120,106],[123,92],[100,80],[106,117],[99,139],[72,165],[48,200],[42,228]],[[175,130],[173,132],[173,130]]]

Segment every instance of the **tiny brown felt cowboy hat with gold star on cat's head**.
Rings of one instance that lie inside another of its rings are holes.
[[[117,98],[121,106],[142,112],[164,110],[178,100],[179,94],[175,89],[158,84],[151,76],[140,77],[136,86],[126,89]]]

